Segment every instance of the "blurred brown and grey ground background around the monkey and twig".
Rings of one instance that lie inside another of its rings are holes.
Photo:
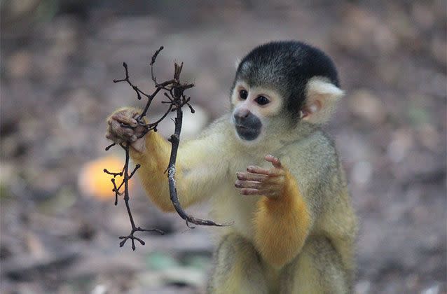
[[[158,80],[176,60],[196,85],[193,136],[228,109],[236,60],[281,39],[327,52],[347,92],[326,130],[361,222],[355,293],[447,293],[446,1],[0,3],[1,293],[204,293],[212,234],[161,214],[137,181],[135,221],[166,235],[118,246],[130,223],[102,169],[120,169],[123,152],[104,151],[104,121],[144,104],[112,80],[127,62],[150,92],[164,45]]]

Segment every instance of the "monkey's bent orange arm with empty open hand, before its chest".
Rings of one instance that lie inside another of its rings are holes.
[[[282,267],[303,248],[312,216],[293,174],[271,155],[273,169],[248,167],[238,173],[242,195],[263,195],[254,217],[255,246],[270,265]]]

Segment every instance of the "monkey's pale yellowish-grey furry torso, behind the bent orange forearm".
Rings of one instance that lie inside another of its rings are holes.
[[[224,127],[228,119],[223,117],[212,126],[213,129],[225,130],[214,139],[227,144],[228,155],[221,160],[226,173],[224,183],[212,191],[210,216],[215,221],[231,222],[232,225],[214,232],[221,236],[237,233],[250,242],[254,241],[256,202],[262,196],[240,195],[234,186],[234,177],[236,172],[246,169],[248,165],[268,167],[263,155],[272,154],[280,158],[294,175],[305,202],[316,216],[309,235],[328,238],[342,255],[343,263],[354,270],[353,246],[357,219],[333,141],[319,128],[309,126],[307,130],[287,138],[285,144],[284,138],[282,141],[272,138],[266,144],[259,144],[261,147],[244,147],[235,143],[235,139],[228,140],[228,137],[235,136],[233,130]],[[222,126],[219,127],[219,124]],[[293,230],[284,228],[289,229]]]

